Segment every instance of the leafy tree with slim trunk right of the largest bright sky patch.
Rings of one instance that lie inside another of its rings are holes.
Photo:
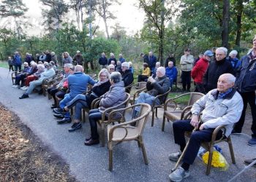
[[[170,22],[176,12],[173,0],[139,0],[139,7],[146,13],[148,32],[156,31],[158,44],[158,60],[163,64],[165,25]]]

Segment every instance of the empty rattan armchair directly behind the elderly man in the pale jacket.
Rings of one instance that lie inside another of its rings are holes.
[[[184,105],[184,107],[182,107],[181,103],[179,103],[178,100],[182,100],[182,98],[185,98],[187,95],[189,95],[189,101],[187,104]],[[165,117],[170,121],[183,119],[184,114],[190,111],[192,105],[202,97],[203,93],[189,92],[178,95],[175,98],[169,98],[168,100],[166,100],[164,106],[164,116],[162,119],[162,131],[165,130]],[[167,108],[169,109],[167,110]],[[172,110],[170,110],[170,108],[172,108]]]

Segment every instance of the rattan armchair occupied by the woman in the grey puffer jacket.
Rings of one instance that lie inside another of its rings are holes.
[[[97,106],[100,102],[99,100],[96,100],[95,102],[91,103],[94,104],[94,106]],[[101,138],[102,138],[102,146],[105,146],[105,127],[110,124],[110,123],[114,123],[114,122],[125,122],[125,112],[127,110],[124,110],[123,112],[116,114],[115,116],[108,116],[110,114],[111,111],[113,111],[114,109],[117,108],[126,108],[128,106],[129,103],[129,93],[126,93],[126,99],[124,100],[124,102],[119,103],[116,106],[110,107],[110,108],[106,108],[103,112],[102,112],[102,119],[99,119],[97,122],[98,124],[101,126]],[[106,119],[106,117],[108,116],[108,119]]]

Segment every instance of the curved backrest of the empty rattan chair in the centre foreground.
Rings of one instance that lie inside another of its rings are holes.
[[[151,106],[147,103],[140,103],[140,113],[138,115],[139,117],[142,117],[140,120],[138,120],[136,127],[138,127],[139,135],[143,132],[143,129],[145,127],[146,121],[148,120],[149,113],[151,112]]]

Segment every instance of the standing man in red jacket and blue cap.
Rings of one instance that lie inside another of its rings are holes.
[[[195,91],[197,92],[205,93],[203,87],[203,75],[206,73],[208,63],[213,55],[214,54],[211,52],[211,50],[206,50],[206,52],[203,54],[203,58],[200,58],[200,60],[198,60],[195,64],[194,68],[192,68],[191,76],[196,84]]]

